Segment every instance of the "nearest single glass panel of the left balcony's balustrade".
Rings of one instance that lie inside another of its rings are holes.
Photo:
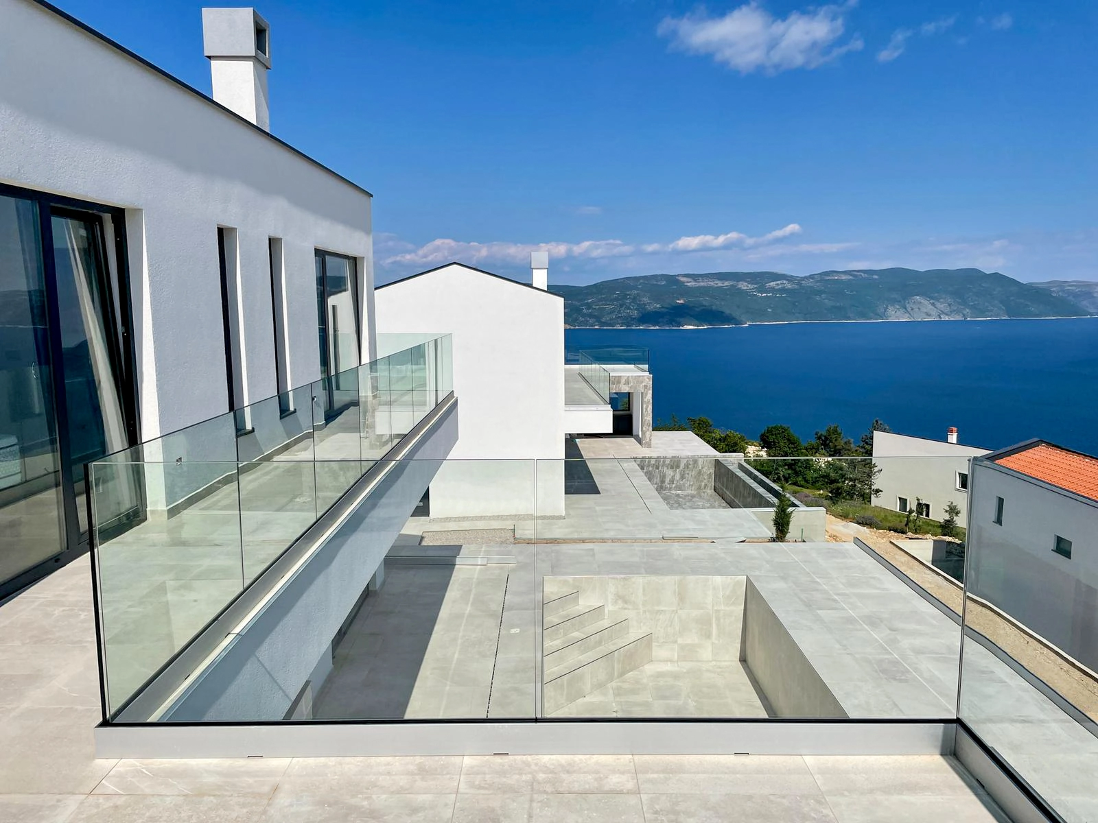
[[[236,463],[134,463],[123,454],[89,472],[113,714],[244,588]],[[132,504],[124,520],[123,499]]]

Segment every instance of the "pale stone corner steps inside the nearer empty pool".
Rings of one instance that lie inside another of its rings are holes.
[[[541,706],[552,714],[652,662],[652,635],[609,620],[605,606],[580,602],[570,591],[542,607]]]

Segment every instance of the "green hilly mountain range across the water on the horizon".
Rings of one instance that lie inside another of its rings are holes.
[[[1098,283],[1020,283],[979,269],[650,274],[550,291],[564,297],[564,324],[586,328],[1098,315]]]

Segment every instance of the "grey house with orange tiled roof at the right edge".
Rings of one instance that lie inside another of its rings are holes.
[[[1098,458],[1030,440],[971,480],[971,593],[1098,669]]]

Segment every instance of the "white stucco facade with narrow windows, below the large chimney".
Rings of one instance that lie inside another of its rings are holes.
[[[369,357],[367,193],[29,0],[0,0],[0,181],[127,210],[142,439],[227,409],[219,225],[239,237],[248,402],[277,392],[269,237],[290,384],[320,376],[315,248],[358,258]]]

